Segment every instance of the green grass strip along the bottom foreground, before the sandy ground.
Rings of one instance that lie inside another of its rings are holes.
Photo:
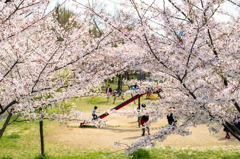
[[[76,99],[72,99],[76,102]],[[89,98],[88,98],[89,100]],[[88,101],[86,99],[86,101]],[[83,102],[83,101],[82,101]],[[92,105],[89,104],[91,107]],[[0,122],[2,126],[4,121]],[[44,120],[44,134],[52,133],[54,130],[50,125],[57,122]],[[123,147],[124,148],[124,147]],[[18,122],[7,127],[6,132],[0,139],[0,159],[34,159],[40,158],[40,138],[38,122]],[[240,158],[239,147],[224,147],[215,149],[191,149],[175,147],[146,148],[133,155],[133,158],[147,159],[238,159]],[[78,147],[48,142],[45,140],[45,151],[48,159],[117,159],[129,158],[122,151],[81,151]]]

